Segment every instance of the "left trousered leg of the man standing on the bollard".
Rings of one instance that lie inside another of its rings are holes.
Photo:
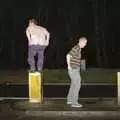
[[[36,54],[36,50],[34,49],[33,46],[29,46],[29,49],[28,49],[28,63],[30,65],[30,71],[34,72],[35,71],[35,56]]]

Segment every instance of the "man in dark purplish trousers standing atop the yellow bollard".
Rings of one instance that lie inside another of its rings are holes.
[[[28,38],[28,63],[30,65],[30,72],[35,72],[35,56],[37,55],[37,71],[43,70],[44,51],[49,45],[50,34],[46,28],[38,26],[35,19],[29,20],[29,25],[26,29]]]

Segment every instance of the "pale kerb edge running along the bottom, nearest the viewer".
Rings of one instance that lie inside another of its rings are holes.
[[[25,111],[27,116],[58,117],[120,117],[120,111]]]

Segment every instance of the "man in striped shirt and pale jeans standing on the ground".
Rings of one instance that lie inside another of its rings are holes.
[[[83,107],[78,103],[79,91],[81,88],[80,62],[81,49],[87,45],[85,37],[79,38],[79,42],[67,54],[68,74],[71,79],[71,85],[67,96],[67,104],[71,107]]]

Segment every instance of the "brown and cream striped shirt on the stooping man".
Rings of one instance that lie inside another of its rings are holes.
[[[80,67],[80,61],[81,61],[81,48],[78,45],[75,45],[71,51],[70,54],[70,66],[73,69],[76,69]]]

